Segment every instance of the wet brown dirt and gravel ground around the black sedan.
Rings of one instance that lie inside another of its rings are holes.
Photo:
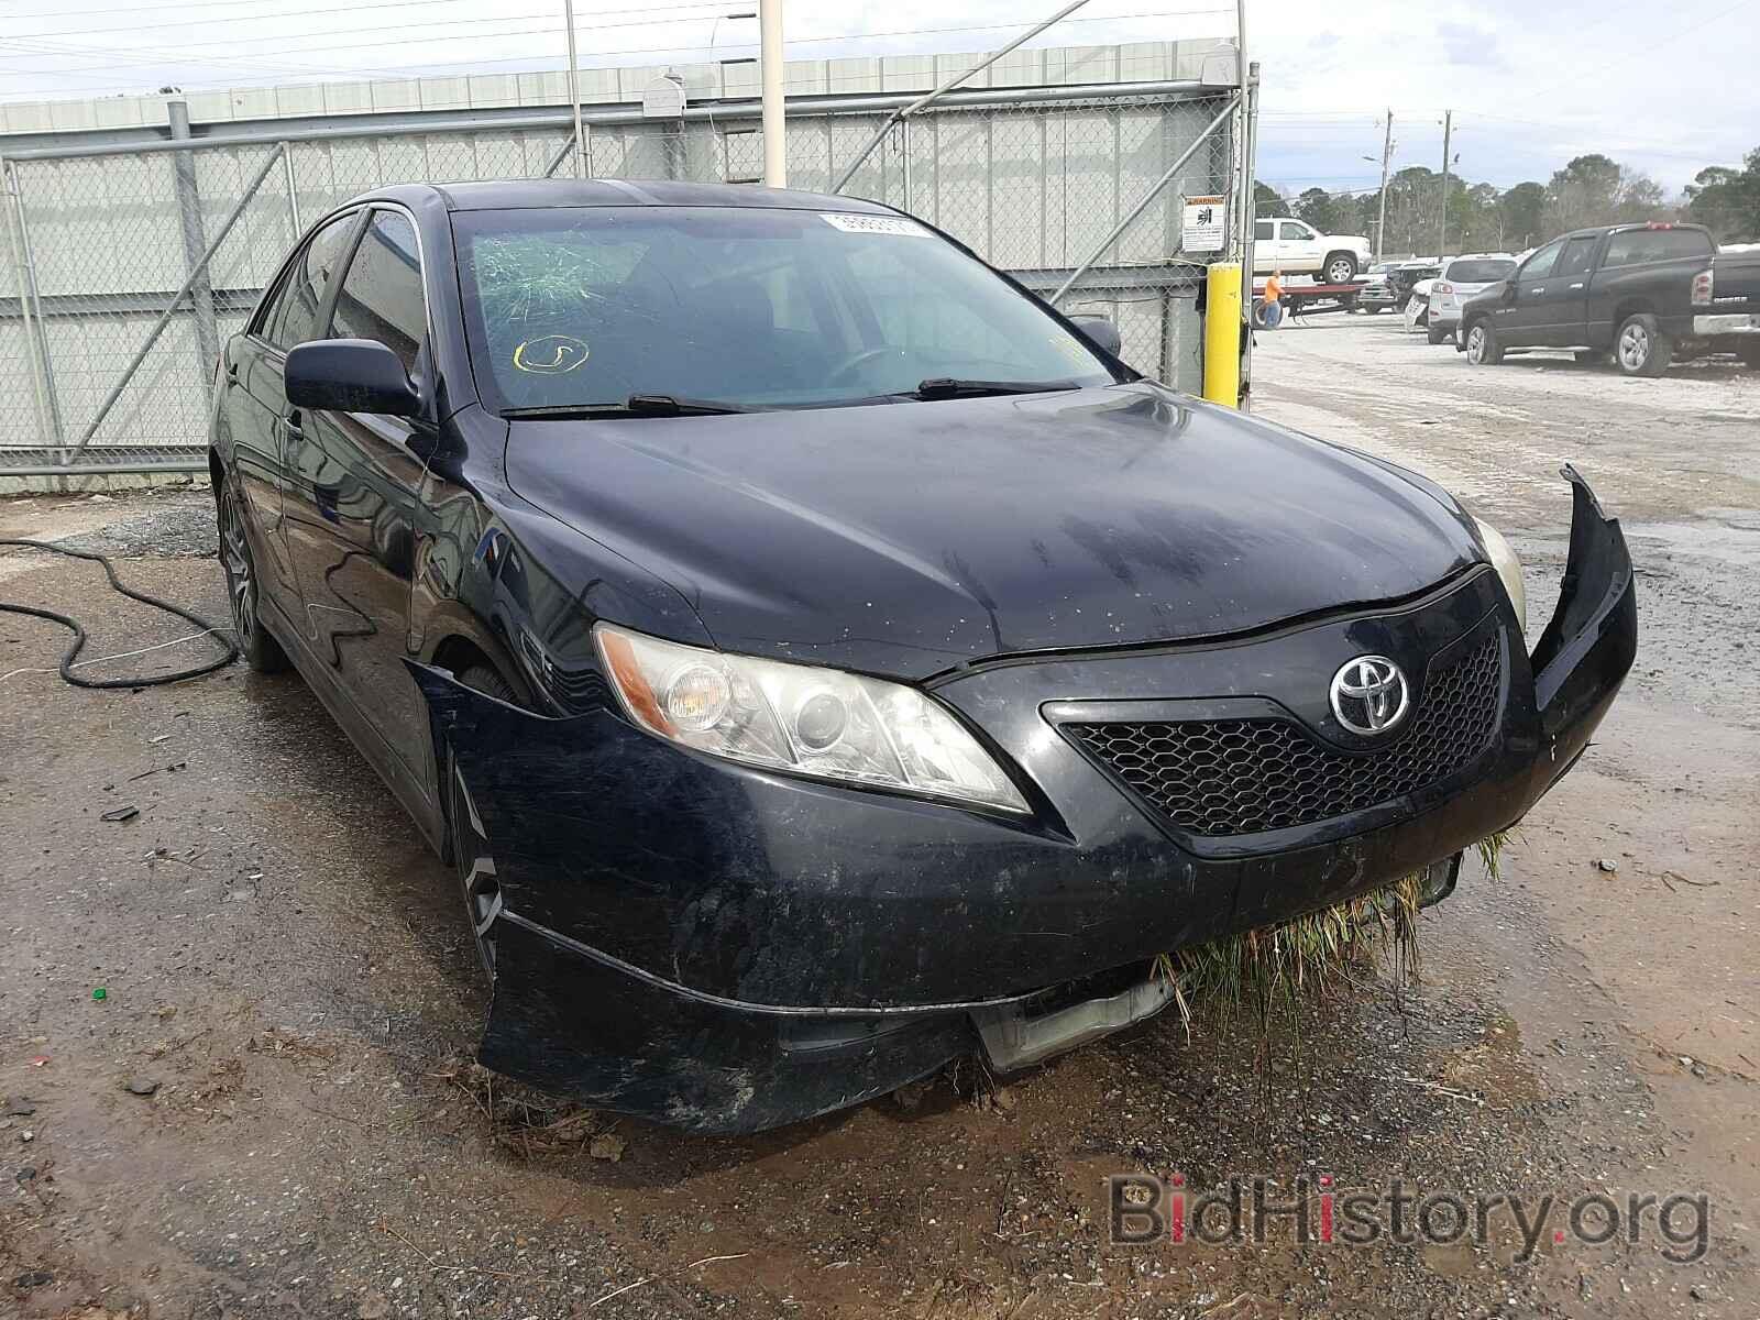
[[[452,882],[297,678],[76,692],[62,634],[0,616],[0,1315],[1760,1313],[1760,375],[1475,370],[1334,315],[1260,336],[1257,398],[1505,526],[1536,630],[1559,461],[1639,560],[1624,695],[1501,878],[1426,913],[1422,984],[1306,1005],[1269,1065],[1237,1019],[1169,1016],[991,1104],[943,1082],[739,1140],[576,1112],[468,1067]],[[0,502],[0,537],[125,554],[222,618],[211,526],[206,491]],[[77,612],[97,655],[188,632],[100,583],[0,553],[0,598]],[[1485,1248],[1107,1246],[1102,1179],[1139,1170],[1704,1192],[1707,1250],[1519,1262],[1505,1220]]]

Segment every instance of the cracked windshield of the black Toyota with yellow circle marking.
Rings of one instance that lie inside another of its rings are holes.
[[[452,225],[477,389],[498,410],[1114,382],[1040,303],[903,216],[607,206]]]

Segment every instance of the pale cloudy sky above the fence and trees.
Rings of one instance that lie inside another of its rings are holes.
[[[993,49],[1060,0],[788,0],[794,58]],[[757,53],[757,0],[577,0],[583,67]],[[1232,0],[1089,0],[1035,46],[1232,37]],[[1371,190],[1394,169],[1545,181],[1602,151],[1670,194],[1760,146],[1760,0],[1248,0],[1258,176]],[[0,0],[0,100],[514,72],[563,62],[561,0]],[[1364,160],[1364,157],[1369,157]]]

